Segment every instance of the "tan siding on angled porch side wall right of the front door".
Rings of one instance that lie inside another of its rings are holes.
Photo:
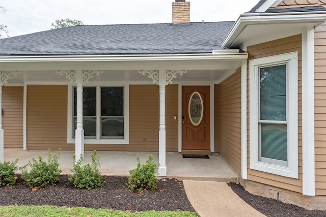
[[[217,85],[217,139],[222,156],[241,174],[241,70]],[[216,122],[215,121],[215,122]]]

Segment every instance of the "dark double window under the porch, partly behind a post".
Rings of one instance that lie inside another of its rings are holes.
[[[77,92],[71,87],[71,119],[68,122],[68,143],[74,143],[77,120]],[[83,128],[85,143],[128,143],[128,94],[127,86],[83,87]],[[68,100],[71,102],[70,100]],[[69,116],[69,110],[68,110]],[[69,121],[69,120],[68,120]]]

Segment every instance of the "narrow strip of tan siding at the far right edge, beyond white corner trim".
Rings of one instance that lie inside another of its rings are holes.
[[[315,28],[314,42],[315,188],[316,195],[326,195],[326,23]]]

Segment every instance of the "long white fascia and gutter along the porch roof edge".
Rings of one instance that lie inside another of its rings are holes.
[[[236,52],[237,51],[237,52]],[[79,56],[1,56],[0,63],[23,62],[69,62],[69,61],[157,61],[157,60],[209,60],[209,59],[247,59],[248,54],[238,49],[219,50],[219,52],[203,54],[175,55],[79,55]]]

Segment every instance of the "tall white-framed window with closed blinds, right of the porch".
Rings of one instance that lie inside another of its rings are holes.
[[[250,168],[297,178],[297,53],[250,60]]]

